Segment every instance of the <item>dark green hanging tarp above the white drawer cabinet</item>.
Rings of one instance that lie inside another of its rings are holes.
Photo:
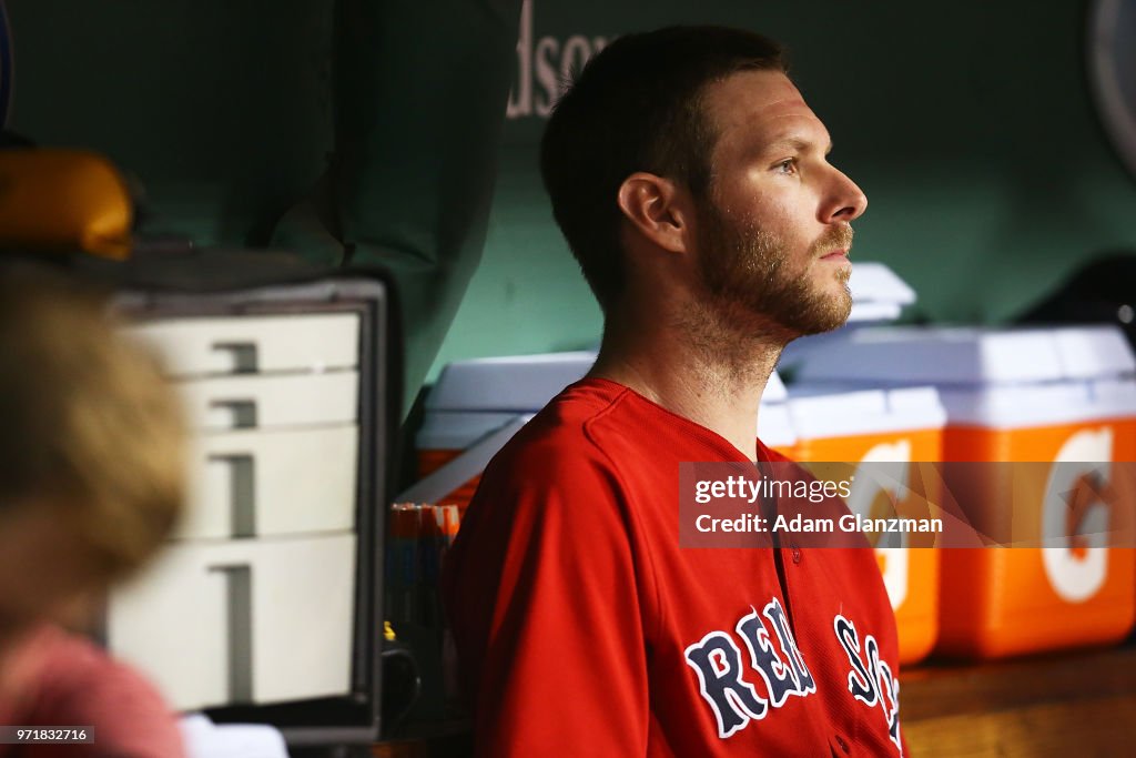
[[[414,398],[477,267],[520,0],[9,0],[9,126],[109,156],[144,234],[394,275]]]

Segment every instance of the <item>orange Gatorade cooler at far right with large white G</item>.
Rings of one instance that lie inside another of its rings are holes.
[[[1031,483],[1035,502],[1019,501],[1030,513],[1013,514],[1016,523],[1033,524],[1034,533],[1025,536],[1039,544],[1050,510],[1068,508],[1061,497],[1068,482],[1056,481],[1052,464],[1136,460],[1134,368],[1128,343],[1113,327],[897,327],[829,343],[809,357],[800,376],[933,383],[947,413],[944,460],[1050,464],[1046,482]],[[1004,511],[1004,469],[977,478],[969,470],[967,481],[952,481],[950,473],[945,480],[952,492],[964,493],[963,511]],[[1126,527],[1130,498],[1096,508],[1097,517],[1109,528]],[[1067,525],[1063,533],[1044,535],[1054,547],[943,550],[937,649],[996,658],[1122,640],[1136,614],[1133,551],[1086,549],[1071,531]]]

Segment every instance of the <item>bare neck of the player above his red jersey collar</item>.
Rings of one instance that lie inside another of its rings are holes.
[[[707,313],[609,319],[588,376],[630,388],[757,459],[758,407],[785,342],[729,333]]]

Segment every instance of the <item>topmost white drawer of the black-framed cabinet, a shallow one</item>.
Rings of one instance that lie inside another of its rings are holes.
[[[359,364],[357,314],[168,318],[127,331],[156,351],[174,377]]]

